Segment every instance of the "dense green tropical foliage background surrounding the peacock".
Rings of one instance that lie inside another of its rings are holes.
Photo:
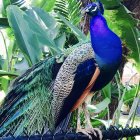
[[[89,104],[91,122],[95,127],[134,127],[140,120],[140,1],[101,1],[109,27],[122,40],[123,61],[112,82]],[[81,13],[90,2],[0,1],[0,103],[12,81],[29,67],[90,40],[89,17]],[[123,116],[127,118],[125,123],[122,114],[127,115]],[[76,126],[76,118],[73,115],[72,127]],[[81,120],[85,125],[83,114]]]

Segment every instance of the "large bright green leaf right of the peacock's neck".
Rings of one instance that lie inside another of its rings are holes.
[[[135,61],[136,67],[140,70],[140,45],[138,40],[137,20],[134,19],[121,5],[116,10],[106,10],[105,17],[109,27],[117,33],[123,44],[130,50],[129,58]]]

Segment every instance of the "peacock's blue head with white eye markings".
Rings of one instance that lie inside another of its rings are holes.
[[[98,2],[93,2],[88,4],[85,8],[84,8],[84,12],[87,13],[90,16],[95,16],[97,14],[104,14],[104,8],[103,5],[100,1]]]

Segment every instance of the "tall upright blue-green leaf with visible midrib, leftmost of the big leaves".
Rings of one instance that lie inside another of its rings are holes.
[[[29,65],[35,64],[40,60],[41,50],[39,48],[36,34],[28,26],[30,18],[14,5],[8,6],[7,16],[19,48],[27,59]],[[31,24],[31,26],[34,25]]]

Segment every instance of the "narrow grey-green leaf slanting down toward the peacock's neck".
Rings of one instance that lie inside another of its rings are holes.
[[[62,15],[58,13],[58,17],[73,31],[73,33],[78,36],[80,40],[86,40],[87,37],[73,24],[71,24],[70,21],[66,20]]]

